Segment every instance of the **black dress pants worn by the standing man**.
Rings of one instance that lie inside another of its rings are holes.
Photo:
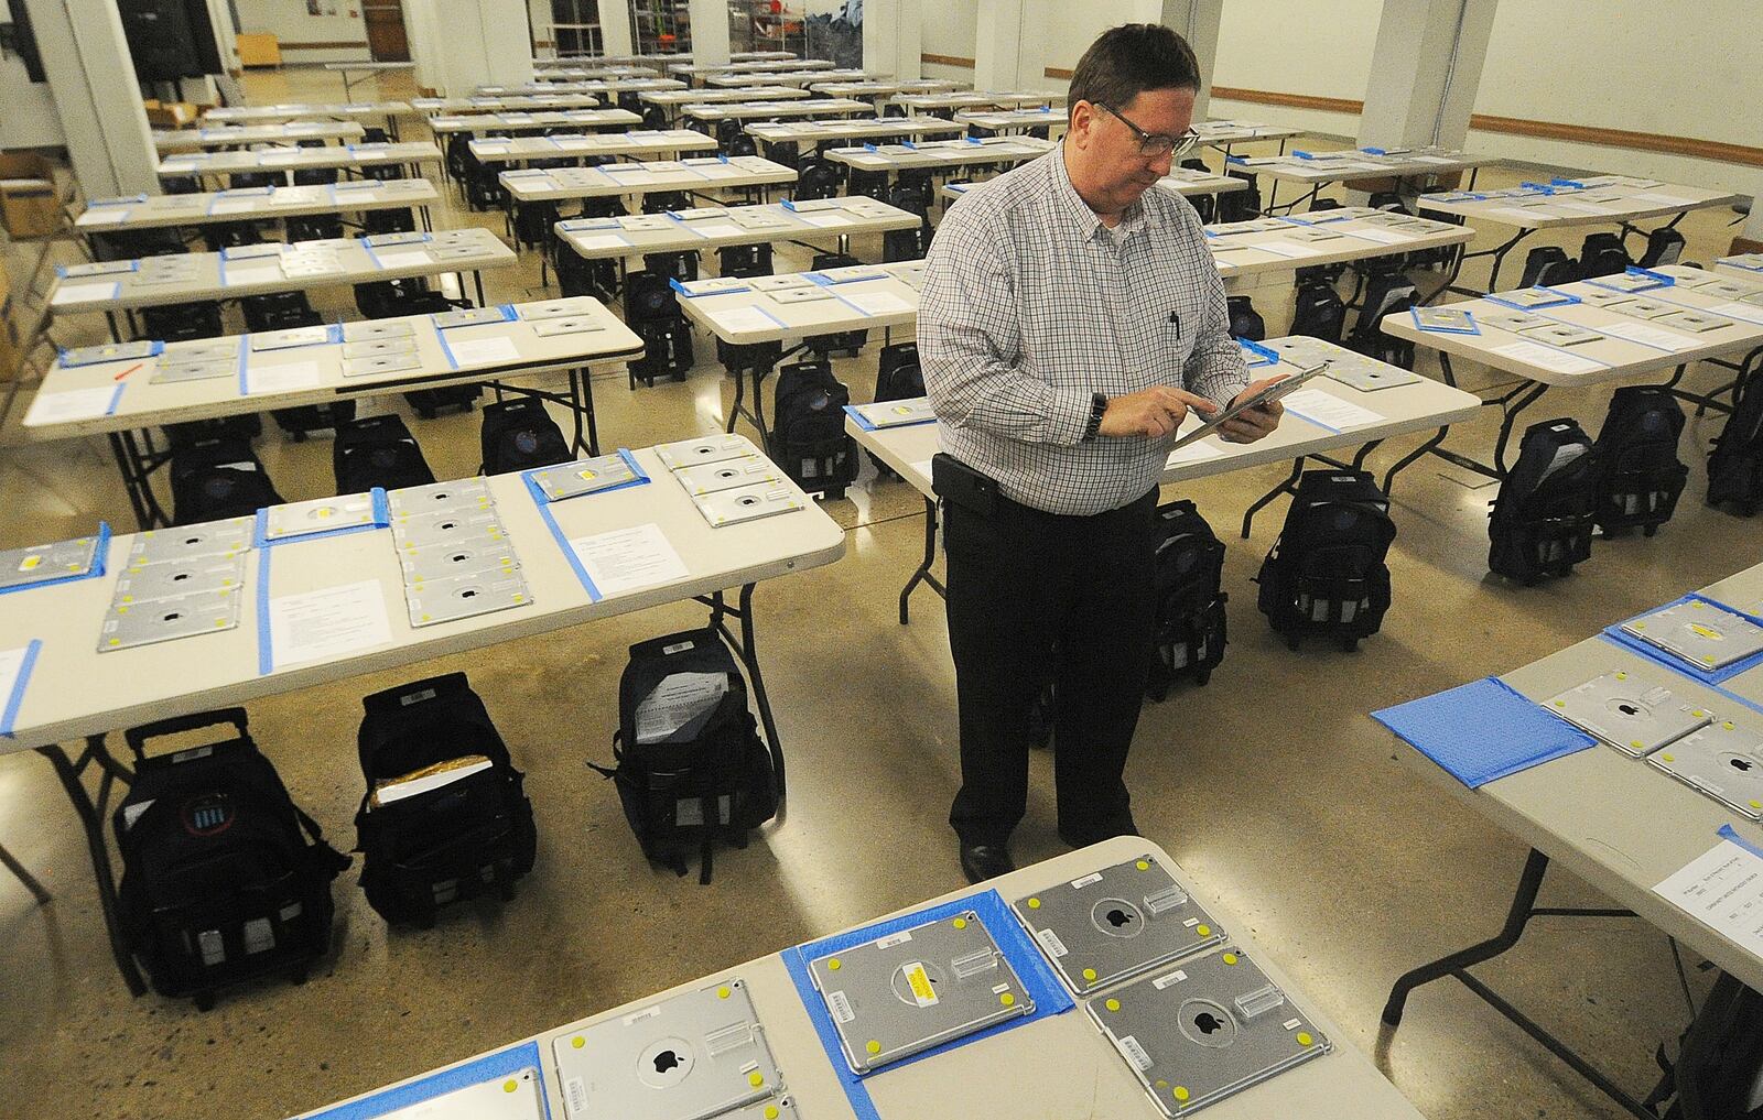
[[[948,646],[961,708],[963,844],[1003,844],[1028,808],[1030,708],[1058,696],[1060,835],[1082,845],[1132,821],[1127,748],[1155,618],[1157,491],[1061,516],[998,497],[991,516],[943,504]]]

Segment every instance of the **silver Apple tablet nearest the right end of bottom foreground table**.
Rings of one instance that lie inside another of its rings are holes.
[[[1236,949],[1153,972],[1084,1011],[1165,1116],[1186,1116],[1333,1050]]]

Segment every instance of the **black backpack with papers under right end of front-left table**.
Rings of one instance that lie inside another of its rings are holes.
[[[740,667],[710,629],[631,646],[612,757],[589,766],[619,787],[643,856],[684,875],[696,851],[698,882],[710,882],[716,842],[746,847],[783,798],[783,754],[760,738]]]

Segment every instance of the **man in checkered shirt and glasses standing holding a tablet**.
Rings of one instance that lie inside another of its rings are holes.
[[[1014,870],[1030,713],[1053,682],[1060,836],[1134,835],[1121,780],[1149,667],[1157,484],[1176,428],[1250,384],[1199,217],[1153,188],[1195,137],[1199,63],[1158,25],[1077,63],[1065,143],[966,194],[931,247],[924,384],[961,710],[961,868]],[[1280,407],[1220,428],[1236,442]]]

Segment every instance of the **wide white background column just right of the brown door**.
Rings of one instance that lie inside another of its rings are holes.
[[[404,26],[420,85],[464,97],[532,81],[524,0],[404,0]]]

